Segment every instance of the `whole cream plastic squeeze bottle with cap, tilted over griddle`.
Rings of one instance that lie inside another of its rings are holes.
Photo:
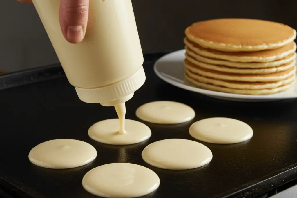
[[[86,34],[78,44],[62,34],[60,0],[33,3],[80,100],[115,106],[132,98],[146,77],[131,0],[90,0]]]

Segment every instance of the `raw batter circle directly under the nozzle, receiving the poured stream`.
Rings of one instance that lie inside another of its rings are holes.
[[[151,129],[135,120],[125,119],[126,133],[120,134],[119,129],[119,119],[109,119],[93,124],[88,134],[97,142],[113,145],[136,144],[151,137]]]

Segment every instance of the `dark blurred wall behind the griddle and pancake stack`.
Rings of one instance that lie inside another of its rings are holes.
[[[183,48],[184,29],[213,18],[256,18],[297,29],[296,0],[132,0],[143,52]],[[0,0],[0,70],[58,63],[33,5]]]

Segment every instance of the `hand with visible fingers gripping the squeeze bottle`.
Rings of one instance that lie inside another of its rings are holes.
[[[17,1],[32,3],[31,0]],[[70,43],[81,42],[88,23],[89,0],[60,0],[59,13],[61,30],[65,39]]]

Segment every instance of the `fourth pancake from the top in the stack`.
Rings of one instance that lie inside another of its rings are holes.
[[[290,69],[295,66],[296,61],[292,60],[290,63],[277,66],[277,67],[267,67],[267,68],[235,68],[235,67],[228,67],[222,65],[212,65],[206,64],[196,60],[194,57],[186,54],[186,59],[194,65],[199,67],[203,67],[206,69],[215,70],[218,72],[227,72],[227,73],[235,73],[235,74],[269,74],[274,72],[281,72],[287,69]]]

